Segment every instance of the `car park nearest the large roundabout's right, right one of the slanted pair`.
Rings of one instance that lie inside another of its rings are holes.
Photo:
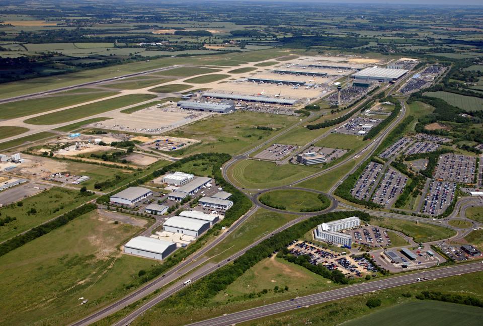
[[[372,201],[376,204],[391,207],[397,196],[403,193],[408,177],[392,168],[387,169],[377,186]]]

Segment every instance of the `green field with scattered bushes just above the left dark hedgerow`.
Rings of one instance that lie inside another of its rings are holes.
[[[17,218],[0,228],[0,242],[80,206],[92,198],[93,196],[81,196],[76,190],[54,187],[22,200],[21,207],[11,204],[0,208],[2,217]],[[28,213],[32,208],[37,213]]]

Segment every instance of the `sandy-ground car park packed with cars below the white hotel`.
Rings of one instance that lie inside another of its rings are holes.
[[[323,249],[312,242],[292,241],[288,249],[295,256],[307,255],[312,265],[322,265],[330,271],[338,269],[346,276],[362,277],[363,274],[377,272],[377,269],[363,257],[352,258]]]

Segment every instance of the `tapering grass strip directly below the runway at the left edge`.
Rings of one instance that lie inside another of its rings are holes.
[[[115,94],[118,94],[118,92],[100,92],[92,94],[81,93],[9,102],[0,104],[0,119],[25,117],[31,114],[60,109],[70,105],[93,101]]]

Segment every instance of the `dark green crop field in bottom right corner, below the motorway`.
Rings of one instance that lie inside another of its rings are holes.
[[[381,309],[362,318],[344,323],[344,326],[373,326],[387,322],[391,326],[479,325],[483,308],[439,301],[416,301]]]

